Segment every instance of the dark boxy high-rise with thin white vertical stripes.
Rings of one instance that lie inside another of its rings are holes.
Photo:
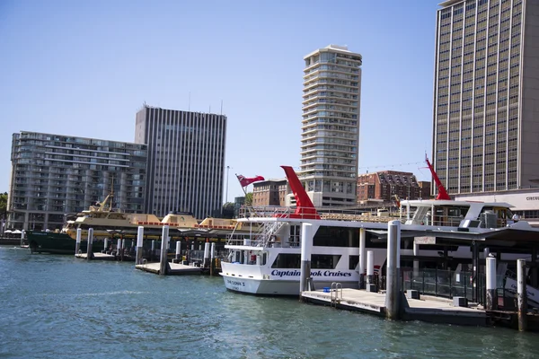
[[[218,215],[223,204],[226,117],[159,109],[137,112],[135,142],[147,144],[145,210],[158,216]]]

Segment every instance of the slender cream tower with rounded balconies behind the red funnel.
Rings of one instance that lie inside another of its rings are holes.
[[[304,59],[299,178],[314,206],[354,205],[361,55],[330,45]]]

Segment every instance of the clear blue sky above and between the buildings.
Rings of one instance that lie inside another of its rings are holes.
[[[430,180],[438,2],[2,0],[0,192],[13,133],[133,142],[145,101],[223,101],[229,201],[234,173],[283,178],[299,168],[303,57],[329,44],[363,56],[359,172]]]

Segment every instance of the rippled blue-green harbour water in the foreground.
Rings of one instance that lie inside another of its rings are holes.
[[[533,358],[535,333],[226,292],[220,277],[0,246],[1,358]]]

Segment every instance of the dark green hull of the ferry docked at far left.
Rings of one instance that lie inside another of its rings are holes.
[[[26,238],[32,253],[75,254],[76,241],[66,233],[27,231]],[[101,242],[101,247],[100,247]],[[86,252],[87,241],[81,241],[81,252]],[[102,241],[93,242],[93,248],[102,249]]]

